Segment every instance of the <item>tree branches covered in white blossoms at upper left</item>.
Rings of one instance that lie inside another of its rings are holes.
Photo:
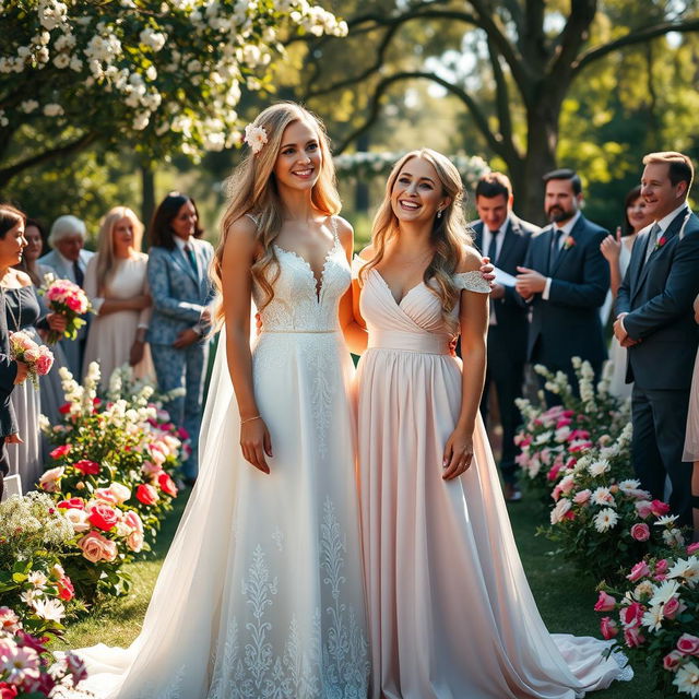
[[[269,83],[282,40],[347,31],[308,0],[0,0],[0,188],[98,140],[153,157],[232,146],[241,88]],[[25,129],[49,138],[20,152]]]

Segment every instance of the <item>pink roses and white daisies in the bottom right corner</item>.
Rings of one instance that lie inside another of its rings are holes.
[[[623,584],[600,585],[601,631],[632,664],[650,668],[664,697],[699,695],[699,544],[645,556]],[[613,613],[613,616],[611,615]]]

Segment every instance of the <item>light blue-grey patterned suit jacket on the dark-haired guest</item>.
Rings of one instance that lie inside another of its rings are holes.
[[[200,323],[202,311],[213,300],[209,265],[214,249],[210,242],[196,238],[191,238],[190,245],[197,272],[177,246],[171,250],[159,247],[149,250],[153,315],[147,339],[152,344],[173,344],[182,330]]]

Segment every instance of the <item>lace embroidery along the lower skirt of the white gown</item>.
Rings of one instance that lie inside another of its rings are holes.
[[[213,682],[209,699],[362,699],[367,696],[369,659],[358,613],[343,600],[346,541],[330,497],[320,523],[320,570],[331,604],[316,608],[304,623],[292,615],[282,655],[274,655],[270,638],[280,581],[258,545],[242,594],[252,609],[245,625],[247,642],[241,652],[241,628],[230,623],[222,656],[212,657]],[[322,616],[328,620],[322,630]],[[306,626],[306,629],[304,629]]]

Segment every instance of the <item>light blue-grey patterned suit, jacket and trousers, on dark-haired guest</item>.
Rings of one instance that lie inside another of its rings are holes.
[[[197,270],[178,247],[171,250],[153,247],[149,251],[153,315],[147,340],[159,390],[183,388],[186,391],[183,396],[169,401],[165,407],[173,422],[183,426],[190,435],[192,453],[185,462],[183,471],[187,476],[194,477],[209,341],[202,339],[182,350],[173,347],[173,343],[189,328],[205,335],[209,327],[201,322],[201,315],[213,300],[214,292],[208,273],[213,258],[211,244],[192,238],[190,245]]]

